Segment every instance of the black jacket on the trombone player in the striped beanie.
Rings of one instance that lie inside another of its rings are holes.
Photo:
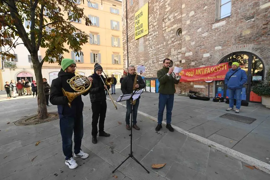
[[[90,76],[89,76],[90,77]],[[92,74],[93,82],[91,89],[89,90],[89,96],[91,103],[96,101],[106,101],[106,94],[104,90],[104,84],[102,80],[100,79],[100,76],[96,73]],[[105,82],[105,78],[101,75],[103,81]],[[110,89],[110,86],[107,85],[108,90]]]

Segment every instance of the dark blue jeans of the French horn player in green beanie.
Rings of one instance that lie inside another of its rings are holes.
[[[66,160],[72,158],[72,134],[74,131],[74,153],[78,154],[81,150],[83,136],[83,120],[81,117],[67,117],[60,119],[60,131],[62,136],[62,147]]]

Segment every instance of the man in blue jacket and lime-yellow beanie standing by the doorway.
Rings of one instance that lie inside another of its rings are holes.
[[[236,97],[236,109],[235,113],[239,113],[241,106],[241,92],[243,85],[247,82],[247,74],[239,67],[238,62],[232,63],[232,69],[230,69],[225,76],[225,84],[229,91],[229,108],[226,111],[233,111],[234,96]]]

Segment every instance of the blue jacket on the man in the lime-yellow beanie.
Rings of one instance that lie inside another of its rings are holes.
[[[234,73],[237,70],[236,73]],[[232,73],[234,73],[232,75]],[[232,77],[229,79],[229,77]],[[225,84],[229,89],[241,89],[243,88],[243,84],[247,82],[247,74],[244,70],[238,67],[235,70],[230,69],[225,76]]]

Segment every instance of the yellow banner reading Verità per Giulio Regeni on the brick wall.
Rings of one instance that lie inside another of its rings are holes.
[[[148,3],[135,13],[135,39],[148,34]]]

